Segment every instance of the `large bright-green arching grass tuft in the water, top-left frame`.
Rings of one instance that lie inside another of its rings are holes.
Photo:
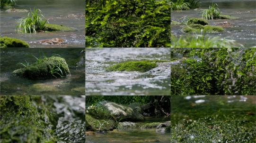
[[[17,31],[19,33],[31,33],[44,30],[45,23],[48,22],[40,9],[35,9],[27,14],[26,17],[22,17],[17,20]]]

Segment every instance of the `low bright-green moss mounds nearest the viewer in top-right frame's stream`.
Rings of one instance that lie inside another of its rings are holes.
[[[220,26],[203,26],[201,24],[189,24],[182,29],[183,32],[201,32],[202,30],[205,33],[224,32],[224,29]]]

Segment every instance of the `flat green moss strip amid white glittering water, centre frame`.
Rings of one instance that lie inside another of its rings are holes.
[[[132,61],[132,62],[115,64],[113,66],[106,68],[106,71],[107,72],[113,72],[113,71],[147,72],[155,67],[157,67],[157,64],[155,61]]]

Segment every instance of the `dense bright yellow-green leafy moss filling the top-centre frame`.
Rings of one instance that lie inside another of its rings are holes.
[[[86,47],[170,47],[168,0],[87,0]]]

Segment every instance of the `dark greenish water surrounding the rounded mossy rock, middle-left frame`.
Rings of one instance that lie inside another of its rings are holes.
[[[71,76],[67,78],[31,80],[13,76],[11,72],[22,68],[18,63],[35,63],[35,57],[59,54],[69,65]],[[1,49],[1,95],[84,95],[85,53],[83,48],[54,48],[52,50],[9,48]]]

